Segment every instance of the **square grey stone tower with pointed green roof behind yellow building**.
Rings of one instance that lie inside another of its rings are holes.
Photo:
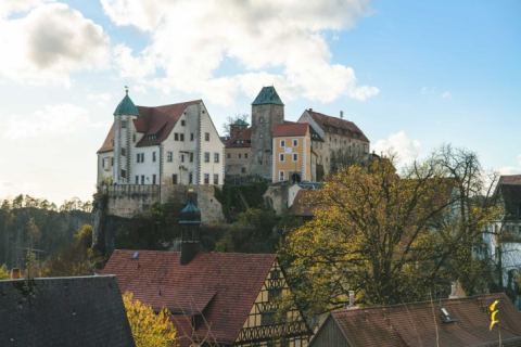
[[[272,129],[282,123],[284,104],[274,87],[263,87],[252,103],[252,175],[271,180]]]

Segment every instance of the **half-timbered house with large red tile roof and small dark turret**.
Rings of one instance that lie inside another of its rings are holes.
[[[167,308],[181,347],[307,346],[312,332],[296,306],[276,314],[278,300],[291,298],[277,256],[199,252],[200,218],[190,200],[180,252],[115,250],[102,272],[117,277],[122,293]]]

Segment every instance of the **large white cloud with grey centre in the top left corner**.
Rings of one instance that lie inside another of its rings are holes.
[[[24,11],[29,12],[9,17]],[[102,66],[109,52],[101,26],[66,4],[46,1],[2,2],[0,42],[0,77],[18,82],[68,83],[71,73]]]

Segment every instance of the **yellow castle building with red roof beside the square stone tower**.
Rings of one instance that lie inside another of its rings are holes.
[[[274,127],[272,182],[313,181],[312,130],[307,123],[284,123]]]

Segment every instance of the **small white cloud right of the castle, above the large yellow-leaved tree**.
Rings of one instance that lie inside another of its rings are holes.
[[[385,155],[396,155],[398,166],[412,163],[421,152],[421,143],[410,139],[405,131],[392,133],[386,139],[378,140],[374,143],[374,151]]]

